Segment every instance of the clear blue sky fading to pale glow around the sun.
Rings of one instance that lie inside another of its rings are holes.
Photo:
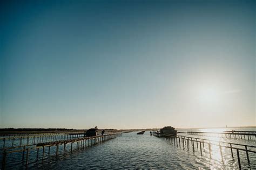
[[[1,1],[0,128],[256,125],[255,1]]]

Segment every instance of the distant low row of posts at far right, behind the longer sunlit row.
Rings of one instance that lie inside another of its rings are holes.
[[[225,138],[233,138],[233,139],[247,139],[252,140],[252,136],[256,136],[255,133],[233,133],[233,132],[194,132],[189,131],[187,134],[198,135],[198,136],[214,136],[214,137],[225,137]]]

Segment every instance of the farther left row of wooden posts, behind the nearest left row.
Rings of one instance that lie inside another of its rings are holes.
[[[11,146],[14,146],[15,141],[19,141],[19,146],[22,145],[24,140],[26,141],[26,145],[31,144],[37,144],[37,143],[44,143],[46,141],[55,141],[55,140],[62,140],[62,139],[72,139],[72,138],[78,138],[78,137],[84,137],[84,133],[46,133],[46,134],[40,134],[40,135],[27,135],[27,136],[13,136],[13,137],[5,137],[0,138],[0,140],[3,141],[2,147],[4,148],[7,141],[11,141]]]

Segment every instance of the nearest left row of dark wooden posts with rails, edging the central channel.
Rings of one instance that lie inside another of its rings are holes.
[[[94,136],[94,137],[81,137],[81,138],[73,138],[73,139],[65,139],[65,140],[58,140],[52,141],[47,143],[38,143],[38,144],[31,144],[31,145],[24,145],[24,146],[16,146],[16,147],[9,147],[5,148],[3,151],[3,160],[2,160],[2,168],[6,168],[6,158],[7,155],[10,153],[18,153],[22,152],[22,162],[25,160],[25,166],[28,167],[29,165],[29,153],[32,150],[36,150],[36,158],[39,157],[39,150],[42,151],[42,162],[45,160],[45,148],[48,147],[48,158],[50,157],[50,148],[56,146],[56,156],[59,155],[59,145],[64,145],[63,147],[63,155],[66,154],[66,145],[71,144],[70,152],[72,153],[75,149],[81,150],[84,149],[86,146],[92,146],[103,141],[110,140],[112,138],[116,138],[120,133],[111,133],[111,134],[104,134],[102,136]],[[76,144],[76,148],[73,146]]]

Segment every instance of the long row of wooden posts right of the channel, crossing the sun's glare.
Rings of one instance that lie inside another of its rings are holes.
[[[198,144],[200,146],[200,154],[203,155],[202,152],[202,145],[203,148],[205,147],[205,145],[208,145],[208,150],[209,150],[209,158],[212,159],[212,145],[218,146],[220,149],[220,155],[221,155],[221,161],[224,164],[224,159],[223,159],[223,150],[222,148],[230,148],[231,150],[231,155],[232,158],[234,159],[234,154],[233,154],[233,150],[237,151],[237,159],[238,159],[238,165],[239,165],[239,169],[241,169],[241,161],[240,161],[240,154],[239,151],[245,151],[246,152],[246,157],[247,157],[247,161],[248,161],[248,165],[250,165],[250,158],[249,158],[249,152],[250,153],[256,153],[256,151],[250,150],[249,148],[256,148],[256,146],[251,146],[251,145],[242,145],[242,144],[234,144],[234,143],[227,143],[227,142],[223,142],[223,141],[215,141],[215,140],[208,140],[208,139],[201,139],[201,138],[193,138],[193,137],[186,137],[186,136],[175,136],[172,134],[163,134],[163,133],[153,133],[154,136],[157,137],[165,137],[167,140],[171,140],[171,143],[173,143],[174,145],[176,144],[178,147],[178,143],[179,143],[179,147],[181,147],[181,144],[183,145],[183,149],[185,149],[185,145],[187,145],[187,150],[189,150],[189,146],[190,146],[190,141],[191,141],[191,146],[193,147],[193,152],[195,152],[194,150],[194,143],[197,144],[197,148],[198,148]],[[224,145],[221,145],[224,144]],[[235,147],[234,147],[235,146]],[[245,148],[240,148],[240,147],[245,147]]]

